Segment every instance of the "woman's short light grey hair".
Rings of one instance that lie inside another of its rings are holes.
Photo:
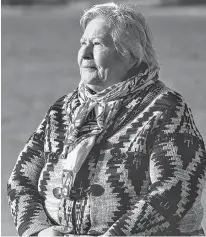
[[[115,48],[123,57],[132,57],[138,64],[145,62],[152,69],[159,69],[152,34],[138,5],[129,2],[105,3],[84,11],[80,19],[83,31],[96,17],[104,17],[111,27]]]

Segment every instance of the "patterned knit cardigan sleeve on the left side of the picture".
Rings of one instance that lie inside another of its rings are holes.
[[[21,151],[8,181],[8,201],[18,234],[31,236],[51,223],[38,192],[44,166],[44,135],[47,115]]]

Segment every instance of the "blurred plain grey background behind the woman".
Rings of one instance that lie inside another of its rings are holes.
[[[16,236],[6,183],[49,106],[79,82],[79,19],[100,0],[2,0],[2,233]],[[206,141],[206,0],[133,0],[147,18],[161,80],[192,108]],[[206,191],[203,206],[206,212]],[[206,231],[206,217],[203,220]]]

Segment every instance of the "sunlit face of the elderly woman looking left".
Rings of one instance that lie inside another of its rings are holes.
[[[118,56],[105,19],[90,21],[80,43],[78,64],[81,80],[91,89],[98,92],[126,79],[126,60]]]

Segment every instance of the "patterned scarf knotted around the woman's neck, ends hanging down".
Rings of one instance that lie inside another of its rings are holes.
[[[122,105],[125,97],[142,91],[146,86],[154,83],[158,78],[157,70],[150,70],[140,65],[139,71],[123,82],[116,83],[99,93],[91,93],[91,90],[80,81],[78,86],[79,107],[70,116],[70,125],[66,135],[64,146],[64,170],[67,178],[63,186],[66,187],[68,196],[74,184],[77,172],[84,163],[86,157],[95,144],[95,139],[112,120]],[[96,117],[95,126],[88,126],[86,134],[78,137],[79,131],[85,123],[89,113],[94,110]],[[65,176],[65,174],[64,174]]]

